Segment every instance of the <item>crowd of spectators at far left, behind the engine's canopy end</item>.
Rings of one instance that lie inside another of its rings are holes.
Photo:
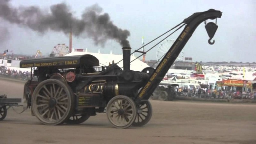
[[[31,73],[28,71],[17,71],[14,69],[10,69],[10,68],[1,66],[0,67],[0,76],[26,81],[26,80],[30,79]]]

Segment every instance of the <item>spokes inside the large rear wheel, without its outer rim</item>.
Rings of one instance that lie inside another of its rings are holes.
[[[33,110],[38,118],[48,124],[65,119],[70,109],[68,90],[56,83],[44,84],[35,95]],[[50,101],[53,104],[50,104]]]

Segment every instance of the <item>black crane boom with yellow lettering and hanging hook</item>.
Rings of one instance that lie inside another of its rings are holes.
[[[210,9],[205,12],[196,12],[183,20],[182,23],[186,24],[184,30],[180,33],[178,38],[175,40],[171,48],[165,54],[161,62],[158,64],[154,72],[149,76],[148,82],[141,88],[140,92],[137,94],[135,101],[138,102],[140,100],[149,99],[152,93],[155,91],[157,85],[162,81],[165,74],[168,72],[169,68],[172,66],[173,62],[176,60],[181,50],[188,42],[189,38],[192,36],[197,26],[202,22],[211,19],[220,18],[222,12]],[[207,24],[208,25],[208,24]],[[208,33],[209,44],[213,44],[210,42],[212,37],[214,36],[218,26],[215,23],[210,22],[208,26],[205,26],[206,31]]]

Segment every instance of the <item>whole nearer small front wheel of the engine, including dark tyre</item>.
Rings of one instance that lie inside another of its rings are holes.
[[[112,98],[107,105],[107,116],[109,122],[116,128],[127,128],[132,125],[136,114],[134,101],[124,95]]]

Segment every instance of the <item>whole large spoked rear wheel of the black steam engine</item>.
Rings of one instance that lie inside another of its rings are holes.
[[[43,124],[62,124],[71,116],[73,108],[73,92],[59,80],[47,79],[39,83],[33,92],[32,110]]]

